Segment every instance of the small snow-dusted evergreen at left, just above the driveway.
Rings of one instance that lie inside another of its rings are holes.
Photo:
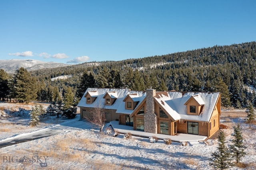
[[[42,105],[35,105],[32,107],[32,111],[30,112],[30,122],[31,126],[37,126],[39,124],[39,116],[44,114],[45,110]]]

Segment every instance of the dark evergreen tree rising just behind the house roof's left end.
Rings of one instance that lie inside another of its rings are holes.
[[[76,97],[78,99],[82,98],[84,92],[86,91],[87,88],[94,88],[95,87],[95,79],[94,76],[92,75],[92,73],[90,72],[90,74],[86,72],[84,72],[80,83],[77,87],[76,90]]]

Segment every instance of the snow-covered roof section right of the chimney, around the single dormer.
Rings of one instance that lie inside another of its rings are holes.
[[[218,100],[219,93],[195,92],[166,92],[167,95],[156,93],[155,101],[162,106],[173,119],[187,119],[194,121],[209,121]],[[196,97],[198,104],[204,104],[200,115],[188,115],[186,105],[191,97]]]

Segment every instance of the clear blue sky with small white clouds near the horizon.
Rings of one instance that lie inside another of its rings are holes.
[[[256,41],[255,0],[1,0],[0,60],[121,61]]]

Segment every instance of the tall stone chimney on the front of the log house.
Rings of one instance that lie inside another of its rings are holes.
[[[144,115],[144,132],[157,133],[157,117],[155,115],[154,97],[155,89],[146,90],[146,113]]]

